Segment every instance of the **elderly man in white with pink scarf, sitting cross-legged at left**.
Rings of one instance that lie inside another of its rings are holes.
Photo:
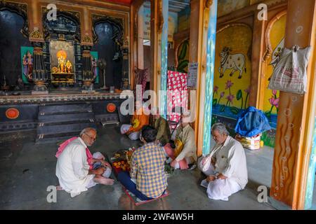
[[[56,176],[60,187],[71,197],[79,195],[97,183],[112,185],[114,180],[109,179],[111,166],[105,162],[104,156],[95,153],[94,158],[88,150],[96,141],[96,130],[86,128],[81,131],[80,137],[74,137],[65,141],[56,153]]]

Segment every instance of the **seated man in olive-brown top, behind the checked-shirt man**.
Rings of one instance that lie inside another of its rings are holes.
[[[169,143],[171,139],[171,132],[169,123],[159,114],[159,109],[153,109],[153,120],[152,120],[152,127],[157,130],[157,137],[156,137],[156,144],[160,144],[161,146],[165,146]]]

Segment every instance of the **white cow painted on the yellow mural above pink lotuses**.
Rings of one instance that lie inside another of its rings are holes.
[[[243,71],[246,73],[246,58],[243,54],[231,55],[230,51],[230,48],[225,47],[220,52],[220,66],[218,68],[220,78],[224,76],[224,72],[227,69],[232,69],[230,76],[232,76],[235,71],[239,71],[238,78],[242,78]]]

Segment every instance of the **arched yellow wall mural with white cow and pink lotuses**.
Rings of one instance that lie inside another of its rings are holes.
[[[216,34],[212,123],[222,122],[230,134],[237,118],[249,106],[252,31],[232,25]]]

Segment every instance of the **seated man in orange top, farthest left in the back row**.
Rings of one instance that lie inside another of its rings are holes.
[[[131,125],[121,125],[121,134],[126,134],[129,139],[137,140],[140,136],[140,130],[149,124],[149,113],[145,114],[145,109],[141,102],[136,102],[136,110],[131,118]]]

